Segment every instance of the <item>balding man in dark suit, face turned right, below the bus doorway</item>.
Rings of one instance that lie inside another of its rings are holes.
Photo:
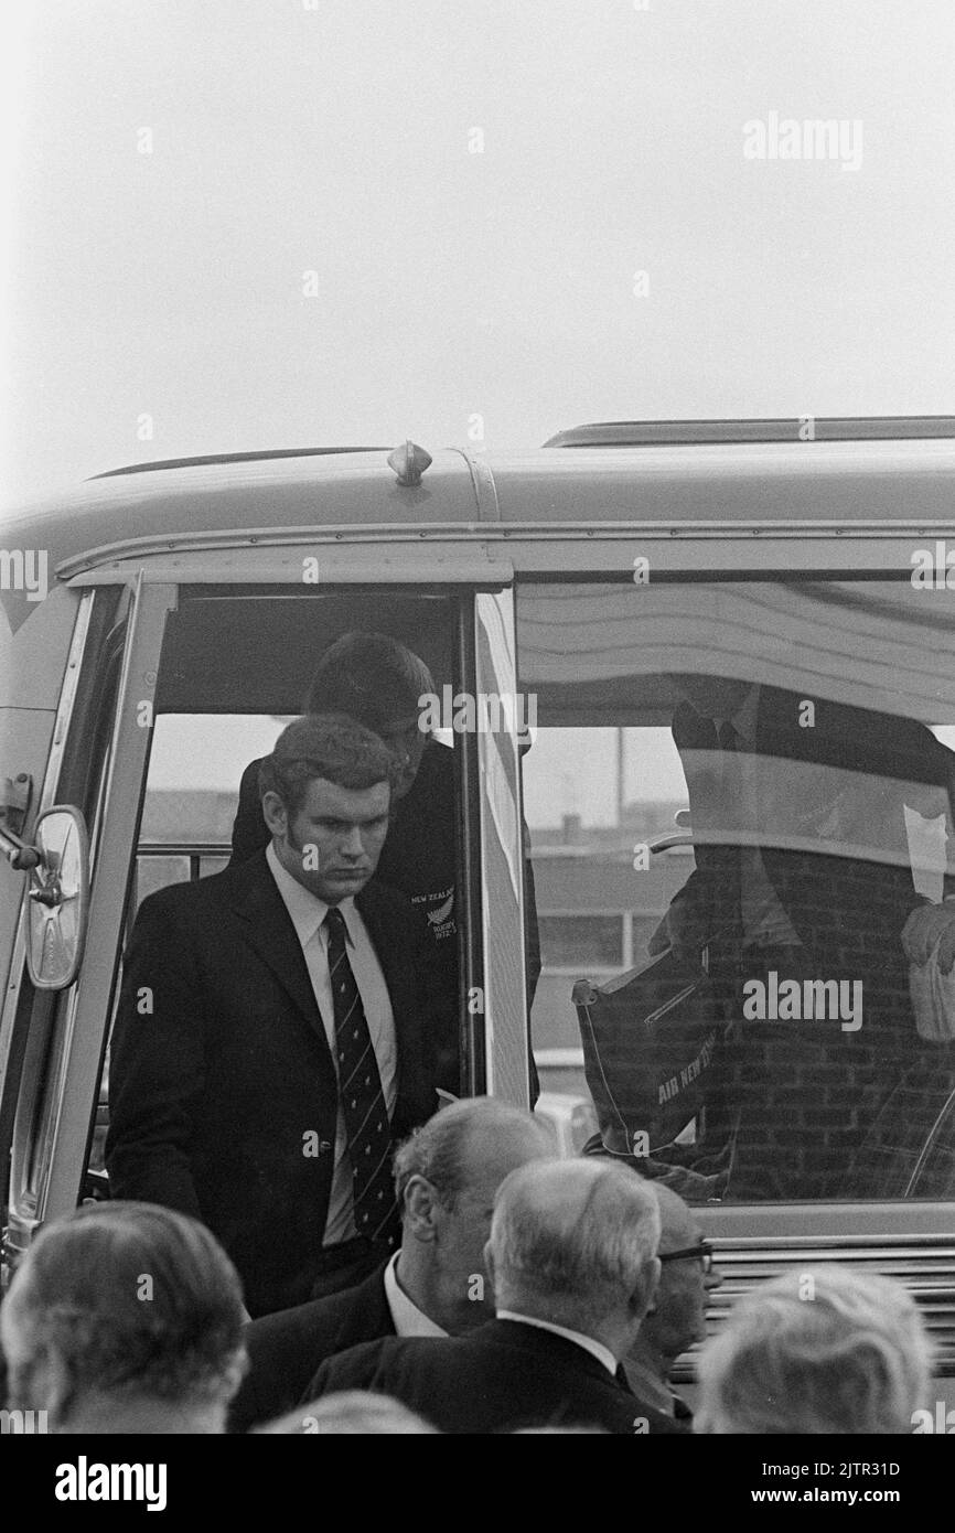
[[[517,1167],[552,1154],[540,1119],[489,1096],[454,1102],[415,1130],[394,1156],[400,1249],[357,1288],[247,1326],[250,1369],[230,1430],[285,1415],[327,1358],[360,1341],[461,1335],[489,1320],[494,1194]]]

